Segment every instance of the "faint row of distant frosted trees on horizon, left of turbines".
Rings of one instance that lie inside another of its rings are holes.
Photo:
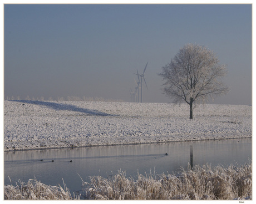
[[[4,100],[40,100],[40,101],[54,101],[54,100],[57,100],[57,101],[106,101],[106,102],[124,102],[124,100],[120,100],[120,99],[105,99],[105,98],[102,98],[102,97],[86,97],[86,96],[83,96],[82,98],[78,97],[78,96],[67,96],[66,98],[65,97],[57,97],[57,98],[52,98],[52,97],[49,97],[48,99],[44,98],[43,96],[41,97],[29,97],[27,96],[26,98],[21,98],[19,96],[17,97],[14,97],[14,96],[5,96],[4,97]]]

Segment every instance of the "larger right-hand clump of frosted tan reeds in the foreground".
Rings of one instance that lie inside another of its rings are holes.
[[[111,178],[90,177],[83,182],[86,199],[93,200],[233,200],[252,199],[252,164],[184,169],[175,175],[143,176],[137,180],[126,178],[119,171]]]

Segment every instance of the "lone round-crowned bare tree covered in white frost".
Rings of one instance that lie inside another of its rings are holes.
[[[193,119],[193,103],[205,103],[209,96],[228,93],[228,87],[220,80],[227,73],[225,65],[211,50],[196,44],[187,44],[179,50],[171,62],[162,68],[164,93],[174,98],[174,103],[186,102]]]

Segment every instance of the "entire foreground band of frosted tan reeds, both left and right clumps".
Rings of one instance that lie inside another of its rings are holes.
[[[136,180],[119,170],[109,178],[82,180],[82,195],[40,181],[4,186],[5,200],[252,200],[252,162],[241,166],[194,166],[176,174],[139,174]]]

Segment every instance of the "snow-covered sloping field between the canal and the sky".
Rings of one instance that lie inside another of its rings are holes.
[[[252,106],[4,101],[4,150],[252,137]]]

